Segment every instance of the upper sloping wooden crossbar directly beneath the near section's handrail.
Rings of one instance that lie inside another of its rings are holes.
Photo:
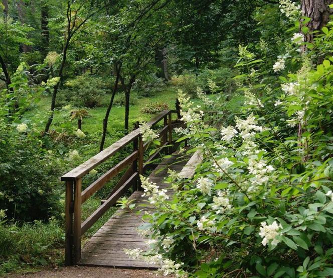
[[[121,160],[117,165],[108,170],[105,174],[96,179],[93,183],[90,184],[81,194],[82,203],[87,201],[89,197],[91,197],[96,191],[101,189],[106,182],[108,182],[112,177],[117,175],[121,170],[123,170],[126,166],[131,164],[134,160],[136,160],[138,156],[138,151],[132,152],[125,159]]]

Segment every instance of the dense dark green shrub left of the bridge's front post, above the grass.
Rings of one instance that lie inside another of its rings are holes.
[[[49,219],[60,211],[61,161],[43,150],[38,135],[0,121],[0,209],[9,218]]]

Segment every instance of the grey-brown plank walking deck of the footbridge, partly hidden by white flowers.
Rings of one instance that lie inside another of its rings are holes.
[[[156,182],[160,189],[169,185],[163,183],[167,176],[168,168],[180,172],[188,159],[181,159],[180,155],[174,154],[172,158],[164,159],[149,175],[152,182]],[[173,193],[168,191],[169,195]],[[153,211],[153,207],[147,202],[146,197],[141,197],[141,191],[135,191],[130,199],[136,200],[135,211],[140,211],[138,215],[128,213],[119,209],[105,223],[96,234],[86,243],[82,249],[80,265],[99,265],[114,267],[135,267],[135,268],[157,268],[158,265],[150,265],[141,260],[133,260],[123,251],[126,249],[148,248],[147,238],[143,238],[137,232],[137,228],[144,223],[141,216],[145,211]]]

